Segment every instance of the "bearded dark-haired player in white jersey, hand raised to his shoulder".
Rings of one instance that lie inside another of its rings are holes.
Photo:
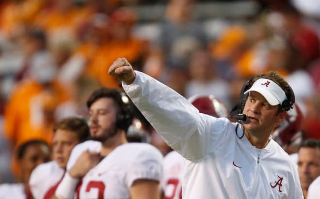
[[[101,88],[87,101],[91,139],[77,145],[55,196],[72,199],[159,199],[162,155],[128,143],[131,103],[124,92]]]

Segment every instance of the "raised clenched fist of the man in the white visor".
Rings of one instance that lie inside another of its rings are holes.
[[[136,78],[136,74],[126,58],[118,58],[112,63],[108,73],[116,77],[119,81],[131,84]]]

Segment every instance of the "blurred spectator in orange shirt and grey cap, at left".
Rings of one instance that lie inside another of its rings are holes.
[[[46,65],[39,67],[16,86],[5,107],[4,134],[13,147],[34,138],[50,143],[54,110],[69,99],[68,92],[53,79],[55,74]]]

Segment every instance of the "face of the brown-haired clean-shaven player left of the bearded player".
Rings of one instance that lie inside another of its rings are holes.
[[[75,132],[58,129],[53,136],[53,159],[59,167],[66,168],[70,153],[77,144],[79,138]]]

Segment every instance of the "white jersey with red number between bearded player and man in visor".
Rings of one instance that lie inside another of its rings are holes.
[[[182,181],[184,176],[185,161],[179,153],[172,151],[163,158],[163,177],[160,187],[164,199],[182,198]]]

